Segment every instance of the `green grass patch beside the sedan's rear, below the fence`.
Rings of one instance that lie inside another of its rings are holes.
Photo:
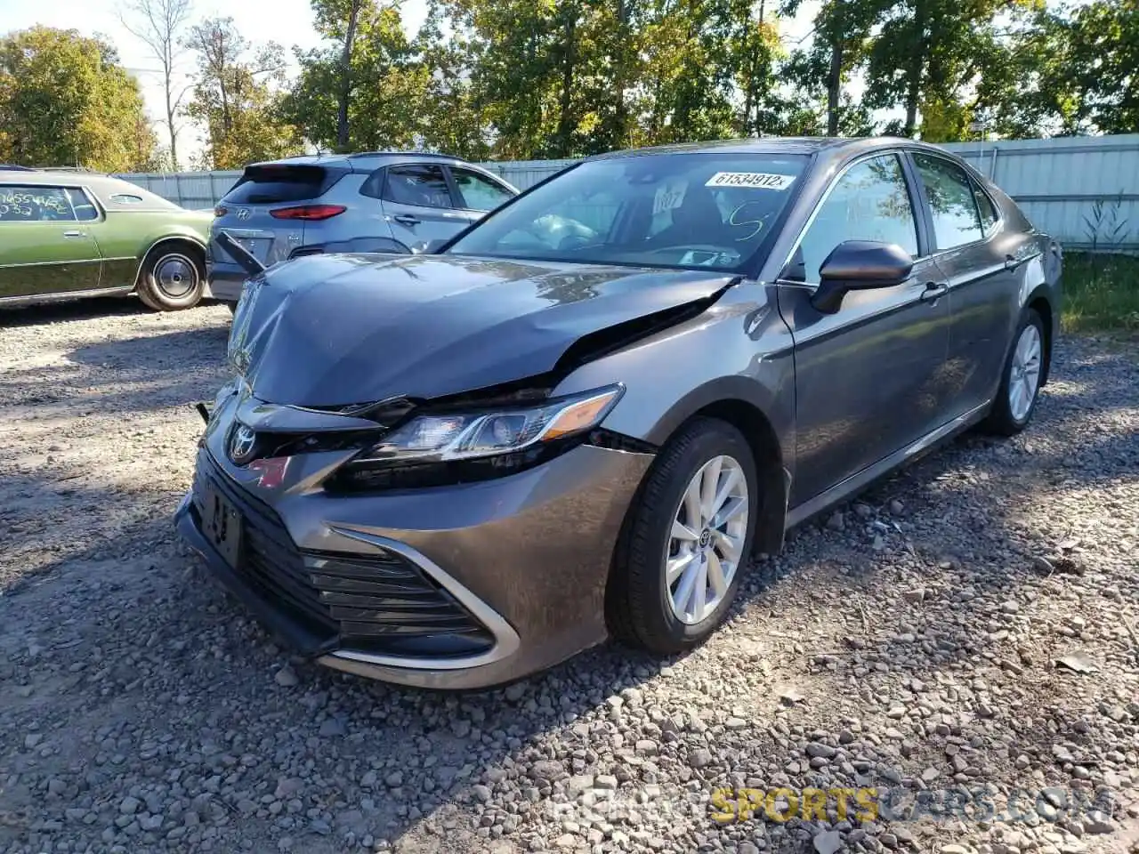
[[[1139,330],[1139,257],[1064,253],[1066,332]]]

